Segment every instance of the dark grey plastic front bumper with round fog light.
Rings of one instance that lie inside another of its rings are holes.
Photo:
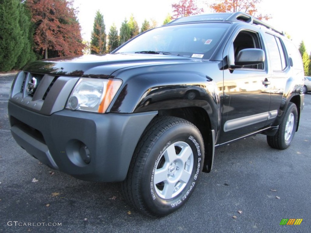
[[[45,116],[12,101],[8,112],[12,135],[28,153],[78,179],[101,182],[125,179],[138,140],[157,114],[62,110]]]

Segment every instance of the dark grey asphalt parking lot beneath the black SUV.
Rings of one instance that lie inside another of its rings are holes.
[[[16,144],[13,78],[0,76],[0,232],[311,232],[311,94],[290,148],[272,149],[264,135],[218,148],[188,203],[152,219],[125,203],[119,184],[77,180]],[[284,218],[303,221],[280,225]]]

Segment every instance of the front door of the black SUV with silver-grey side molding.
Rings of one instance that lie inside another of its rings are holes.
[[[237,29],[229,44],[237,56],[245,48],[262,48],[259,33]],[[267,59],[264,64],[224,70],[222,132],[220,143],[247,135],[266,126],[269,118],[270,79]]]

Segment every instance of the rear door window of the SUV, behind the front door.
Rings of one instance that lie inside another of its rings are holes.
[[[270,63],[273,71],[283,71],[286,68],[286,57],[279,37],[266,34]]]

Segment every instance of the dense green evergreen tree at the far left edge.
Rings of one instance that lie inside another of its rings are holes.
[[[20,7],[18,0],[2,0],[0,4],[0,71],[11,70],[23,48]]]

